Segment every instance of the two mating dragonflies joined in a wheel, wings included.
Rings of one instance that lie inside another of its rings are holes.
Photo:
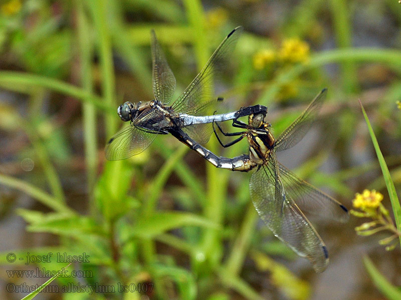
[[[175,90],[175,77],[152,30],[154,99],[144,104],[125,102],[118,107],[118,115],[123,121],[130,121],[130,125],[107,142],[106,158],[128,158],[142,152],[157,134],[171,133],[216,167],[236,171],[256,168],[249,186],[251,199],[260,217],[275,236],[298,255],[308,258],[314,269],[320,272],[328,263],[327,248],[303,211],[339,221],[348,219],[348,211],[340,202],[298,178],[280,164],[276,152],[294,146],[303,138],[316,119],[326,89],[312,100],[306,110],[277,139],[269,130],[270,124],[264,121],[266,106],[247,106],[234,112],[213,114],[216,105],[223,100],[214,96],[214,80],[219,78],[219,72],[223,70],[242,30],[242,27],[237,27],[227,35],[205,67],[173,102],[171,98]],[[243,116],[248,116],[248,123],[239,120]],[[218,122],[227,120],[233,120],[232,125],[243,131],[224,132]],[[225,147],[246,137],[249,154],[234,158],[220,157],[202,146],[200,143],[207,142],[212,133],[210,123],[219,142]],[[222,134],[239,137],[223,144],[215,124]]]

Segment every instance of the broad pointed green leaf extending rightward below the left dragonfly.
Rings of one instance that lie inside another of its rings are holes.
[[[129,236],[123,239],[125,240],[132,237],[153,238],[155,235],[181,226],[220,228],[218,224],[188,212],[155,212],[139,219]]]

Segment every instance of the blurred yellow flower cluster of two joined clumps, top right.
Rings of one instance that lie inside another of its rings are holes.
[[[274,61],[280,63],[298,63],[308,61],[310,55],[309,44],[298,38],[283,40],[281,47],[275,49],[262,49],[254,54],[254,67],[263,69]]]

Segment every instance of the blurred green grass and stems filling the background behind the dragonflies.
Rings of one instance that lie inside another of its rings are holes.
[[[219,86],[227,111],[267,105],[277,136],[328,87],[318,125],[279,160],[349,208],[368,188],[390,209],[358,99],[399,191],[397,0],[2,0],[1,298],[21,299],[27,292],[15,286],[49,278],[7,270],[60,270],[58,252],[85,252],[89,262],[73,263],[81,275],[57,278],[38,299],[383,299],[365,253],[401,285],[399,244],[385,251],[385,232],[356,235],[355,217],[315,223],[330,264],[314,273],[259,219],[250,174],[216,169],[170,135],[105,161],[105,141],[122,125],[117,105],[152,99],[150,29],[179,95],[238,25],[245,32]],[[207,147],[228,157],[248,148],[214,138]],[[7,261],[10,252],[24,260]],[[49,252],[51,262],[25,264]],[[83,288],[95,284],[115,292]]]

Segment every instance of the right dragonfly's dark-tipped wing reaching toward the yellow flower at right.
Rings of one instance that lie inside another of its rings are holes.
[[[300,179],[281,163],[279,163],[279,170],[285,193],[297,203],[302,211],[341,222],[348,220],[348,210],[336,199]]]

